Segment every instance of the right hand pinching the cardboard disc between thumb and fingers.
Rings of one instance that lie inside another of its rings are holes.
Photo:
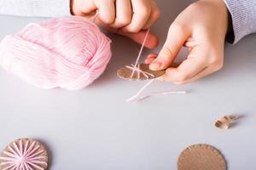
[[[222,68],[224,39],[228,28],[228,10],[223,0],[192,3],[172,23],[160,54],[150,54],[146,63],[151,70],[166,69],[160,80],[183,84],[205,77]],[[179,66],[172,67],[182,47],[189,55]]]

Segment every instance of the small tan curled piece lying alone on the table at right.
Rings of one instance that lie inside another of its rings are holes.
[[[235,122],[239,119],[239,116],[223,116],[218,118],[218,120],[214,123],[215,127],[221,129],[228,129],[232,122]]]

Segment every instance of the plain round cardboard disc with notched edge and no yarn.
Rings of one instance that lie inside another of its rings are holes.
[[[208,144],[195,144],[178,157],[177,170],[226,170],[224,156]]]

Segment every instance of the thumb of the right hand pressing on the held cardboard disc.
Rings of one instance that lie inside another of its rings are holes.
[[[172,25],[164,47],[161,49],[159,56],[149,66],[152,71],[159,71],[168,68],[177,57],[183,43],[189,37],[189,31],[181,26]]]

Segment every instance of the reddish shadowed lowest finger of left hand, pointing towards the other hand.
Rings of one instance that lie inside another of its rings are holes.
[[[131,33],[131,32],[124,32],[124,31],[118,31],[117,32],[119,35],[129,37],[131,40],[134,42],[143,44],[143,40],[145,38],[145,35],[147,31],[139,31],[137,33]],[[148,33],[147,41],[145,43],[146,48],[155,48],[158,45],[158,37],[156,37],[152,32]]]

